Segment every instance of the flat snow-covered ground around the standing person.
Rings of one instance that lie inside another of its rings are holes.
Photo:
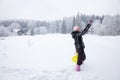
[[[70,34],[0,38],[0,80],[120,80],[119,41],[85,35],[87,59],[76,72]]]

